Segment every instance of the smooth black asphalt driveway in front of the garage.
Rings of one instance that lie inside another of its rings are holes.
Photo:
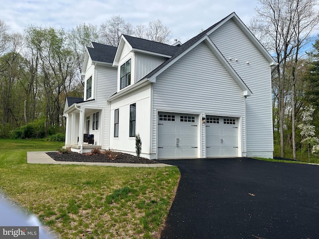
[[[251,158],[161,162],[181,172],[161,239],[319,238],[318,165]]]

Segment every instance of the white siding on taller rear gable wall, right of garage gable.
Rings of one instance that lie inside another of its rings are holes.
[[[252,156],[254,151],[266,151],[267,156],[268,151],[271,156],[273,127],[270,63],[233,20],[224,23],[210,38],[253,92],[253,96],[246,100],[247,155]]]

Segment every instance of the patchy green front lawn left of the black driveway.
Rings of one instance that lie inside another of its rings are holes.
[[[26,151],[61,142],[0,139],[0,190],[66,238],[159,238],[177,167],[27,164]]]

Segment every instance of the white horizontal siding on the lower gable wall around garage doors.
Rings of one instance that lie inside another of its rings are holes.
[[[206,114],[242,119],[245,116],[243,91],[205,43],[200,43],[161,73],[153,89],[153,153],[157,150],[157,112],[193,113],[199,117]],[[200,157],[205,156],[204,127],[205,125],[201,124],[199,129],[201,145],[198,146],[202,149]],[[244,127],[242,123],[243,138]],[[245,144],[241,146],[245,151]]]

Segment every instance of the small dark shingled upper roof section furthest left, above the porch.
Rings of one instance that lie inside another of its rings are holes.
[[[88,47],[92,61],[113,63],[117,47],[96,42],[92,42],[92,45],[94,48]]]

